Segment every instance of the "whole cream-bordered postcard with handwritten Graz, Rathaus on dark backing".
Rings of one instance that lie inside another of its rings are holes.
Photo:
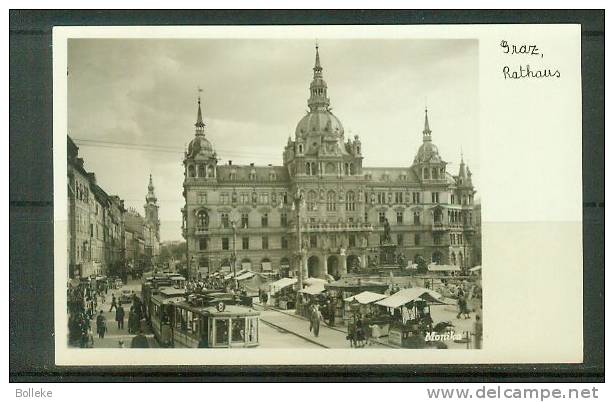
[[[56,364],[582,361],[579,26],[53,46]]]

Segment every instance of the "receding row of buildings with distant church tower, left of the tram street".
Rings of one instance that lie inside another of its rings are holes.
[[[152,177],[145,216],[109,195],[84,167],[68,137],[68,277],[125,276],[147,268],[160,251],[160,221]]]

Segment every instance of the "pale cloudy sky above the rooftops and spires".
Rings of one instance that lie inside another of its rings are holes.
[[[98,184],[143,211],[149,175],[161,239],[181,239],[183,150],[198,88],[219,163],[281,165],[305,115],[313,40],[70,39],[68,134]],[[363,166],[410,166],[428,105],[433,143],[479,197],[476,40],[320,39],[333,113],[359,135]],[[126,145],[128,144],[128,145]]]

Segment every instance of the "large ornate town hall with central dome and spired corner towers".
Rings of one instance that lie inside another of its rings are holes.
[[[358,136],[346,138],[331,111],[317,47],[309,91],[309,111],[288,138],[282,166],[218,165],[199,98],[183,160],[190,275],[230,270],[234,259],[237,270],[292,276],[303,261],[304,275],[338,277],[374,263],[385,225],[386,241],[408,262],[472,265],[471,171],[461,157],[457,174],[448,172],[428,112],[411,166],[371,168]]]

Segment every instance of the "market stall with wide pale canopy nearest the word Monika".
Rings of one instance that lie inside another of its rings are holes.
[[[402,289],[392,296],[375,302],[392,318],[388,342],[406,348],[425,346],[425,334],[432,329],[430,306],[446,304],[443,297],[430,289],[415,287]]]

